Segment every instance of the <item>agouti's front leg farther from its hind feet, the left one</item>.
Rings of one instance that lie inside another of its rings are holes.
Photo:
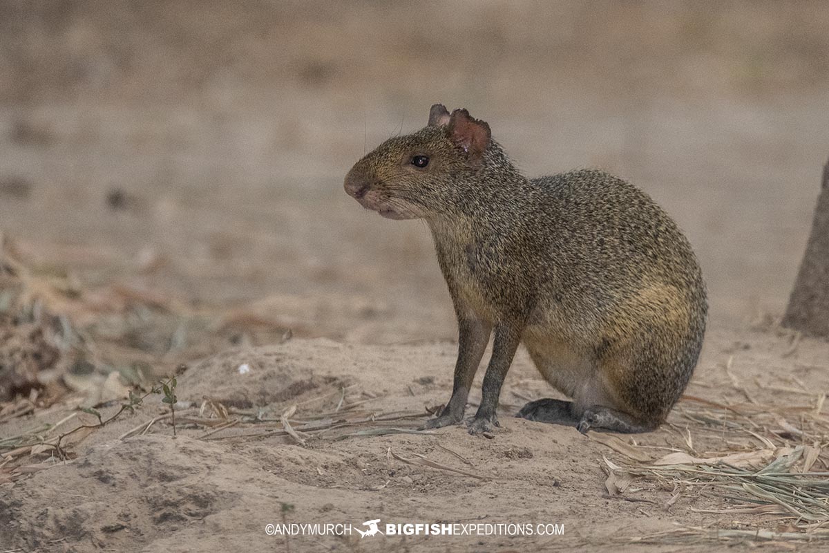
[[[455,362],[452,397],[438,417],[426,421],[424,429],[442,428],[463,420],[469,388],[472,387],[475,373],[478,372],[483,351],[487,349],[490,332],[492,325],[489,323],[471,318],[458,318],[458,361]]]

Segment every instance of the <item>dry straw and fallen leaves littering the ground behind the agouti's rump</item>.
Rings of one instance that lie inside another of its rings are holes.
[[[825,398],[815,396],[812,405],[724,405],[686,396],[664,428],[671,436],[671,453],[659,458],[647,446],[615,436],[592,436],[625,459],[604,458],[611,495],[648,486],[672,489],[664,506],[670,510],[681,495],[696,492],[720,504],[715,509],[691,507],[696,512],[760,516],[779,530],[683,527],[633,541],[690,544],[829,538],[829,531],[823,530],[829,526]],[[699,451],[698,444],[721,447]]]

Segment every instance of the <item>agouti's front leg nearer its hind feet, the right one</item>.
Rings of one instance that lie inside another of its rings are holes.
[[[521,326],[509,323],[497,323],[495,338],[492,342],[492,358],[487,366],[487,374],[483,376],[481,386],[481,405],[478,412],[468,421],[469,434],[482,434],[499,426],[495,411],[498,407],[498,396],[501,395],[501,386],[507,376],[512,358],[515,357],[518,343],[521,342]]]

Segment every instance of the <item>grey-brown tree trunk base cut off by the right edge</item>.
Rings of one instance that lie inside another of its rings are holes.
[[[783,326],[809,336],[829,337],[829,162],[823,167],[812,234],[788,299]]]

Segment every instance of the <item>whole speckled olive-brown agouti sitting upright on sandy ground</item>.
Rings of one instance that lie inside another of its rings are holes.
[[[429,125],[357,162],[345,188],[392,219],[422,218],[458,318],[451,399],[427,428],[463,420],[489,337],[492,358],[470,433],[497,425],[520,342],[573,401],[531,401],[529,420],[657,428],[696,366],[705,284],[688,240],[652,199],[598,170],[528,179],[465,109],[436,104]]]

